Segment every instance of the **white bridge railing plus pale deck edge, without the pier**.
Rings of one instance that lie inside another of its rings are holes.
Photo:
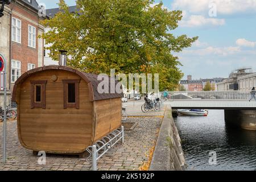
[[[162,100],[166,93],[159,93]],[[251,91],[168,92],[172,107],[256,107],[256,96]]]

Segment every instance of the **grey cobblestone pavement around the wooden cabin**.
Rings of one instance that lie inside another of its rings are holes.
[[[156,135],[160,128],[161,118],[128,118],[127,122],[138,122],[133,131],[125,131],[125,144],[117,144],[98,160],[100,170],[138,170],[144,162],[147,162],[147,152],[156,142]],[[16,121],[7,122],[7,162],[2,163],[2,127],[1,130],[1,151],[0,170],[60,170],[80,171],[89,170],[91,164],[85,158],[78,158],[71,155],[46,156],[46,165],[39,165],[39,156],[32,154],[32,151],[23,148],[18,140],[16,132]]]

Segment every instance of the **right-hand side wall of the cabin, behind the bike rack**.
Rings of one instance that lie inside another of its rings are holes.
[[[112,98],[95,102],[95,137],[94,142],[101,139],[121,126],[122,101],[121,98]]]

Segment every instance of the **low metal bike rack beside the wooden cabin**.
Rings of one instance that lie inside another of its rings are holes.
[[[112,133],[109,133],[106,137],[103,137],[101,140],[98,140],[86,148],[86,151],[89,152],[89,156],[86,159],[87,162],[92,163],[92,170],[97,171],[97,160],[99,160],[106,152],[110,150],[115,144],[121,140],[122,144],[125,143],[125,129],[122,126],[119,130],[114,130]]]

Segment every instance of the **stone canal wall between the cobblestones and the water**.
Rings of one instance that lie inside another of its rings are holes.
[[[181,140],[172,117],[171,107],[166,108],[159,137],[156,142],[150,171],[184,171],[185,159]]]

